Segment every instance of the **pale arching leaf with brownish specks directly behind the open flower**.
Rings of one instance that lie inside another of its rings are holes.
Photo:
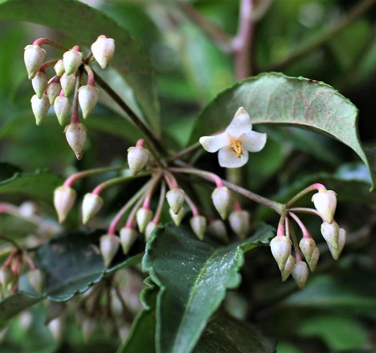
[[[351,147],[376,182],[375,151],[359,141],[358,109],[331,86],[303,77],[262,73],[221,92],[197,117],[190,143],[224,130],[243,106],[254,124],[288,124],[323,133]]]

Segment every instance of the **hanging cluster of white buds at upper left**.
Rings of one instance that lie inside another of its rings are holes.
[[[62,58],[44,62],[46,52],[41,47],[43,44],[65,50]],[[83,118],[86,119],[99,98],[94,73],[88,64],[94,57],[100,67],[106,68],[114,56],[114,51],[114,40],[105,35],[100,35],[91,45],[91,55],[87,58],[84,58],[78,45],[66,50],[58,43],[45,38],[36,39],[32,45],[27,45],[25,48],[24,62],[35,91],[35,95],[31,98],[31,107],[36,124],[42,123],[51,105],[61,126],[71,115],[70,124],[65,127],[64,132],[77,159],[82,158],[86,144],[86,127],[79,122],[78,105],[81,107]],[[53,65],[56,75],[49,79],[46,70]],[[86,85],[81,85],[83,71],[88,75]],[[69,96],[73,92],[72,104]]]

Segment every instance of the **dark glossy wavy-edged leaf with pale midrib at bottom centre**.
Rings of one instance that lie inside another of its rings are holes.
[[[226,289],[236,288],[244,252],[267,245],[273,227],[226,247],[199,241],[186,227],[158,227],[147,243],[143,270],[161,289],[157,297],[156,351],[190,352]],[[173,313],[173,315],[171,315]]]

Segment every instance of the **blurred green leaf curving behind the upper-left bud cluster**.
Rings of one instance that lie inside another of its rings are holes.
[[[157,132],[159,103],[151,63],[141,46],[111,17],[76,0],[0,0],[0,18],[43,24],[90,47],[97,36],[115,39],[112,67],[126,79]],[[24,45],[23,45],[24,46]]]

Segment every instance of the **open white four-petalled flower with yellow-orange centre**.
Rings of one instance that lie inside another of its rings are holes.
[[[235,113],[223,133],[203,136],[200,144],[208,152],[218,152],[221,167],[238,168],[248,162],[248,151],[258,152],[264,148],[266,133],[252,131],[251,118],[243,107]]]

